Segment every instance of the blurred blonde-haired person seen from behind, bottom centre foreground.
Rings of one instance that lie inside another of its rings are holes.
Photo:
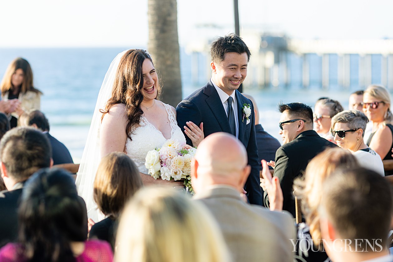
[[[231,261],[208,210],[185,194],[145,188],[127,203],[116,237],[115,261]]]

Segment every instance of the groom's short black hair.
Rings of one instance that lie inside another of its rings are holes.
[[[250,62],[250,49],[248,49],[243,39],[234,33],[219,37],[211,43],[210,56],[213,62],[223,61],[225,54],[229,52],[238,54],[246,53],[248,57],[247,62]]]

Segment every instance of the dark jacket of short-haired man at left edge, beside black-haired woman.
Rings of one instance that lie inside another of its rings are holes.
[[[0,247],[18,238],[18,207],[23,183],[11,191],[0,192]]]

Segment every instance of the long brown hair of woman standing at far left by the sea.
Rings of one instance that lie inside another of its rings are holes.
[[[20,87],[20,93],[26,93],[27,91],[33,91],[36,93],[42,93],[38,89],[34,88],[33,85],[33,71],[31,70],[30,64],[26,59],[21,57],[16,58],[8,65],[6,73],[4,74],[3,80],[0,84],[0,90],[2,95],[8,91],[13,91],[15,86],[11,83],[12,75],[18,69],[22,69],[24,73],[23,82]]]

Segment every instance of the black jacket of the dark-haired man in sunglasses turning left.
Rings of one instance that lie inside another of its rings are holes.
[[[293,197],[294,178],[300,176],[309,161],[328,147],[337,147],[320,137],[314,130],[301,132],[294,140],[282,145],[275,154],[274,176],[280,180],[283,190],[283,210],[295,217],[295,200]],[[267,194],[264,194],[265,203]]]

